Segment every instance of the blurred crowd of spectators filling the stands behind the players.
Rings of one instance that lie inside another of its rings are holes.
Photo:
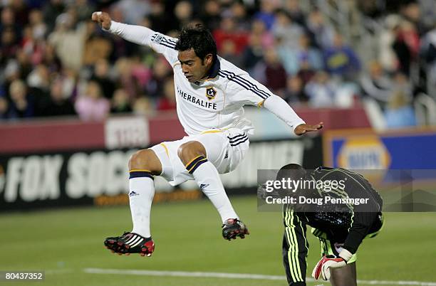
[[[316,1],[2,0],[0,120],[103,120],[175,109],[170,65],[90,21],[93,11],[107,11],[114,21],[169,36],[203,23],[220,56],[293,107],[351,107],[372,98],[389,126],[416,125],[416,95],[435,98],[435,0],[325,1],[344,1],[360,21],[377,23],[372,58],[359,53],[361,39],[344,37]]]

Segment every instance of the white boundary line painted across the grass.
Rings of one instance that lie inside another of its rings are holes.
[[[223,273],[223,272],[187,272],[187,271],[103,269],[103,268],[84,268],[83,272],[90,273],[90,274],[121,274],[121,275],[144,275],[144,276],[172,276],[172,277],[208,277],[208,278],[253,279],[253,280],[286,280],[286,277],[281,276],[281,275],[261,275],[261,274]],[[315,280],[313,278],[306,278],[306,282],[315,282]],[[388,280],[358,280],[358,284],[363,284],[363,285],[436,286],[436,282],[388,281]]]

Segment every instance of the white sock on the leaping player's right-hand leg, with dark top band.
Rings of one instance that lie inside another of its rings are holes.
[[[238,218],[224,190],[224,186],[222,186],[217,168],[204,157],[196,161],[197,164],[194,161],[192,162],[194,164],[188,164],[187,169],[194,176],[199,188],[217,208],[222,222],[224,223],[229,218]]]

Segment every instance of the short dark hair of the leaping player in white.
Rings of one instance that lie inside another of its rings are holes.
[[[191,48],[194,49],[197,57],[204,60],[208,53],[212,53],[212,56],[217,56],[217,43],[215,43],[212,34],[204,28],[202,24],[195,26],[187,26],[183,28],[182,32],[178,36],[175,49],[177,51],[187,51]]]

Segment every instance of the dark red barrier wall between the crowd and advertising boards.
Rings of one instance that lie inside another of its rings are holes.
[[[361,107],[321,110],[304,108],[296,109],[296,112],[308,123],[324,122],[324,129],[370,127],[365,110]],[[185,136],[175,112],[144,120],[148,123],[145,141],[150,144]],[[3,122],[0,123],[0,154],[102,149],[106,147],[105,136],[105,122],[82,122],[77,119]]]

